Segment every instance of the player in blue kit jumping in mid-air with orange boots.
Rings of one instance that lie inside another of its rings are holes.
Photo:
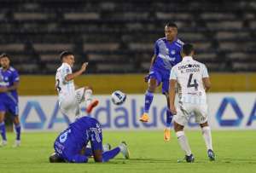
[[[167,23],[165,26],[166,37],[158,39],[154,43],[154,56],[151,60],[148,76],[145,82],[148,82],[148,89],[145,93],[144,112],[140,118],[142,122],[148,122],[148,111],[153,101],[155,89],[162,84],[162,93],[166,95],[166,129],[164,131],[164,140],[170,140],[170,130],[172,123],[172,112],[170,111],[170,102],[168,96],[169,77],[172,66],[182,61],[180,51],[183,42],[177,38],[177,25]]]

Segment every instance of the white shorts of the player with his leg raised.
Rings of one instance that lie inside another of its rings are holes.
[[[84,88],[76,89],[75,94],[59,96],[59,107],[71,122],[81,117],[79,104],[84,101]]]

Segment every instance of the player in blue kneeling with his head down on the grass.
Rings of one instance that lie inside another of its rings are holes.
[[[90,147],[86,147],[90,141]],[[70,124],[67,130],[61,132],[54,143],[55,153],[49,157],[49,162],[86,163],[93,156],[96,162],[108,162],[117,154],[123,153],[129,159],[129,151],[125,141],[112,150],[103,152],[102,128],[95,118],[82,117]]]

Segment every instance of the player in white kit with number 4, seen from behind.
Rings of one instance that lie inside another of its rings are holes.
[[[200,124],[202,136],[204,137],[207,154],[212,161],[215,155],[212,149],[212,135],[207,123],[207,96],[206,91],[210,89],[211,83],[207,67],[201,62],[193,60],[194,48],[192,44],[184,44],[182,49],[183,61],[172,67],[170,74],[170,110],[173,113],[173,124],[177,141],[186,153],[187,162],[194,162],[189,142],[184,134],[184,125],[188,123],[190,116],[195,115],[196,123]],[[177,109],[174,105],[175,86],[178,89]]]

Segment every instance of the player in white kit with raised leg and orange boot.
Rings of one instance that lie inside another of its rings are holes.
[[[81,75],[88,63],[84,63],[78,72],[72,72],[74,55],[63,51],[60,55],[62,65],[57,69],[55,76],[55,89],[58,92],[59,107],[72,122],[81,116],[79,104],[85,102],[86,112],[90,113],[99,101],[92,101],[92,89],[88,86],[76,89],[73,79]],[[74,117],[75,115],[75,117]]]

